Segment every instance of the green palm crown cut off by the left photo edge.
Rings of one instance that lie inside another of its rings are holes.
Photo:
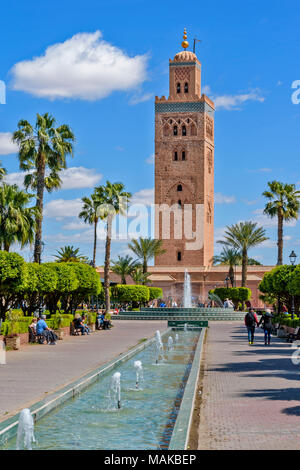
[[[33,242],[37,208],[27,207],[32,197],[17,185],[0,186],[0,249],[9,251],[15,242],[22,247]]]

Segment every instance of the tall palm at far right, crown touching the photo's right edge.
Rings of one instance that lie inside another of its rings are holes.
[[[277,264],[282,264],[283,258],[283,222],[298,219],[300,209],[300,191],[296,191],[294,184],[283,184],[279,181],[268,183],[269,191],[265,191],[263,196],[269,202],[266,204],[264,214],[269,217],[277,217]]]

